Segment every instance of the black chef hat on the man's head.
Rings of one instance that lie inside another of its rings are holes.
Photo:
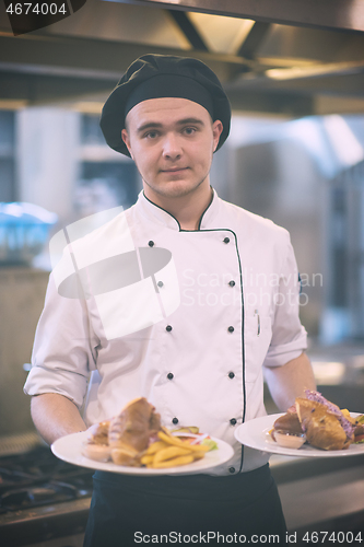
[[[138,103],[157,97],[188,98],[202,105],[213,121],[223,124],[216,150],[225,142],[231,107],[216,74],[198,59],[148,54],[130,65],[104,105],[99,125],[107,144],[130,155],[121,139],[125,118]]]

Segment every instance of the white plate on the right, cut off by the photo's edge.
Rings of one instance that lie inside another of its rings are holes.
[[[330,451],[315,449],[315,446],[310,446],[309,444],[304,444],[301,449],[285,449],[284,446],[280,446],[270,437],[269,431],[272,429],[274,421],[284,414],[285,412],[261,416],[260,418],[242,423],[235,431],[235,439],[250,449],[270,452],[272,454],[281,454],[283,456],[344,457],[364,454],[364,444],[351,444],[347,450]],[[361,416],[356,412],[350,414],[353,418]]]

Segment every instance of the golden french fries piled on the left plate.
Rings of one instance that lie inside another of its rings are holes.
[[[140,458],[142,465],[152,469],[191,464],[209,451],[209,446],[190,444],[172,435],[166,429],[158,431],[158,441],[152,443]]]

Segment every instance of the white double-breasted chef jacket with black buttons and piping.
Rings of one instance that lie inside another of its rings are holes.
[[[58,393],[84,405],[86,424],[144,396],[166,427],[197,426],[234,447],[234,457],[212,474],[263,465],[268,455],[242,450],[234,432],[266,415],[263,368],[283,365],[306,348],[287,231],[215,191],[199,229],[184,231],[141,193],[106,228],[78,240],[80,253],[107,247],[126,224],[120,252],[167,249],[169,269],[87,299],[61,295],[54,272],[25,393]],[[148,316],[146,284],[161,307],[138,324]],[[124,327],[115,330],[119,322]]]

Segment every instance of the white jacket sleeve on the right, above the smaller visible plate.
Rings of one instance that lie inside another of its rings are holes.
[[[291,242],[280,272],[271,344],[265,366],[281,366],[307,348],[307,333],[300,321],[300,278]]]

